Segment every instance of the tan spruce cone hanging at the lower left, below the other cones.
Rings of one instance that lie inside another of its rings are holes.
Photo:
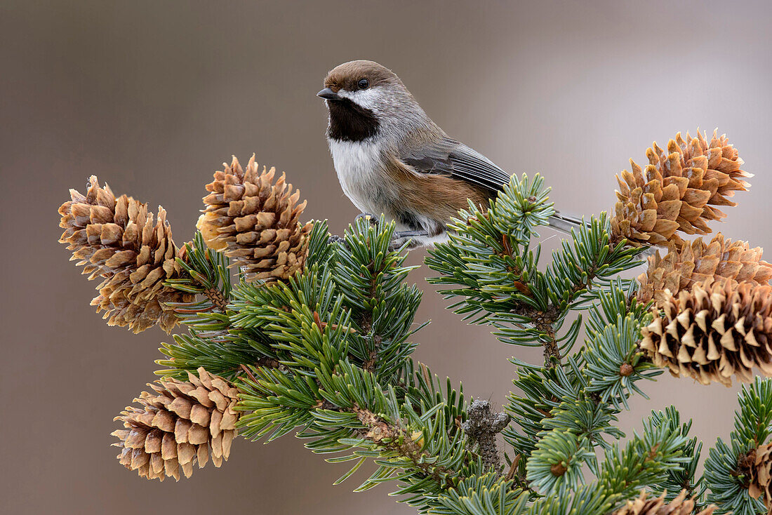
[[[239,391],[225,379],[198,368],[198,377],[188,372],[188,381],[167,379],[148,383],[154,393],[143,391],[144,408],[128,406],[115,420],[124,428],[112,433],[122,450],[117,458],[130,470],[147,479],[180,479],[193,473],[193,466],[205,466],[211,457],[222,465],[231,452],[239,412],[234,407]]]

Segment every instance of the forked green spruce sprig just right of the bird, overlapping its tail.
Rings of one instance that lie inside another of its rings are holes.
[[[461,297],[452,305],[457,313],[493,325],[505,343],[542,346],[545,366],[555,367],[581,329],[580,318],[560,333],[567,314],[592,300],[596,286],[636,266],[640,251],[612,246],[608,217],[601,214],[574,232],[541,272],[540,246],[531,250],[530,237],[552,212],[542,182],[537,178],[530,185],[527,178],[513,178],[487,212],[470,205],[452,225],[451,241],[430,250],[426,263],[442,274],[431,283],[457,286],[441,290]],[[526,197],[523,190],[532,195]]]

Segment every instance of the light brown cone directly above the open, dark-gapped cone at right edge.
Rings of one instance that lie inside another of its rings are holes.
[[[662,307],[670,296],[706,280],[766,284],[772,278],[772,265],[761,259],[761,252],[747,242],[724,239],[720,232],[709,243],[697,238],[680,250],[671,243],[664,258],[659,251],[648,258],[646,273],[638,276],[638,300],[653,299]]]

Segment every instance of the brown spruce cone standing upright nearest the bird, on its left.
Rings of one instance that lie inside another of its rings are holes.
[[[198,223],[207,245],[231,257],[247,280],[293,276],[303,269],[311,229],[310,222],[298,223],[306,207],[305,201],[297,204],[300,191],[292,193],[284,174],[274,183],[275,168],[259,171],[254,154],[246,171],[235,157],[223,165],[206,185],[212,193]]]

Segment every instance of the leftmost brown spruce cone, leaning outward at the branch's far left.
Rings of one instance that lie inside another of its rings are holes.
[[[91,305],[105,312],[108,325],[139,333],[158,324],[169,332],[177,317],[165,303],[191,302],[194,296],[164,286],[164,280],[181,275],[164,208],[159,206],[154,222],[147,204],[126,195],[115,198],[94,175],[86,195],[74,189],[69,194],[72,201],[59,208],[59,226],[65,229],[59,242],[69,244],[89,280],[103,279]]]

